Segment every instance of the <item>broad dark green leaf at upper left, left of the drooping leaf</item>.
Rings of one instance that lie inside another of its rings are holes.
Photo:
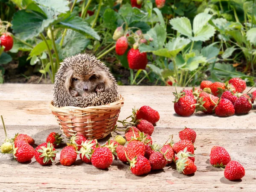
[[[12,29],[20,39],[26,40],[38,36],[53,21],[39,12],[20,10],[13,16]]]

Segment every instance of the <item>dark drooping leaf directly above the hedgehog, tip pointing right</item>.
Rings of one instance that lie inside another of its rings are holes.
[[[70,17],[62,20],[60,23],[55,25],[56,27],[73,29],[83,35],[90,35],[97,40],[100,40],[100,37],[97,32],[92,29],[88,23],[83,21],[81,17],[76,17],[75,15],[71,15]]]

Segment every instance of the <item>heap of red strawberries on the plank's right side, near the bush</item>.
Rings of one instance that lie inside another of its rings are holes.
[[[246,83],[240,78],[230,79],[226,83],[202,81],[200,88],[174,92],[174,109],[180,116],[191,116],[198,111],[215,113],[220,117],[246,114],[253,107],[256,91],[250,98],[249,94],[242,93],[245,89]]]

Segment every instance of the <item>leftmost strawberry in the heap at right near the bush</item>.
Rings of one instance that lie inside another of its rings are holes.
[[[191,116],[195,112],[196,100],[190,95],[186,95],[183,91],[181,93],[173,92],[175,96],[174,110],[180,116]]]

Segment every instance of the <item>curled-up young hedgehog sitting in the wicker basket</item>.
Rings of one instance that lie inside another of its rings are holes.
[[[67,57],[56,73],[55,107],[106,105],[119,100],[117,83],[109,68],[92,54]]]

